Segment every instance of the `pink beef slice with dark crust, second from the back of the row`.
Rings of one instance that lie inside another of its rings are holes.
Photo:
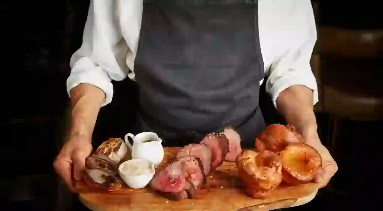
[[[205,136],[200,142],[205,144],[211,150],[211,166],[210,170],[215,170],[222,165],[228,151],[229,140],[223,133],[211,133]]]

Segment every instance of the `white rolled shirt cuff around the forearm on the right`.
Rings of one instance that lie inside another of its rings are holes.
[[[301,71],[298,73],[293,69],[288,72],[289,73],[286,73],[280,77],[280,79],[278,79],[270,88],[270,94],[275,108],[277,108],[277,97],[279,94],[286,88],[293,85],[303,85],[313,90],[313,105],[315,105],[319,101],[318,86],[311,69],[310,71],[307,71],[307,73],[303,73]]]

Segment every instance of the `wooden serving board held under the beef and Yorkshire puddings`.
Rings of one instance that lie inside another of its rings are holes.
[[[172,161],[179,148],[164,149],[164,160],[156,169],[157,172]],[[233,162],[224,162],[216,171],[211,172],[208,187],[207,190],[199,190],[196,199],[170,201],[149,187],[139,190],[122,188],[109,193],[95,190],[83,182],[75,183],[80,201],[93,211],[272,210],[306,204],[318,191],[314,183],[291,187],[280,185],[267,199],[250,198],[241,191],[241,181]]]

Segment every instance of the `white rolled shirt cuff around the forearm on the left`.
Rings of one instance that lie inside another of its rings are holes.
[[[70,96],[70,89],[81,83],[88,83],[97,86],[105,92],[105,102],[102,106],[109,104],[113,97],[113,84],[108,73],[100,66],[95,66],[92,61],[82,58],[72,68],[67,79],[67,92]]]

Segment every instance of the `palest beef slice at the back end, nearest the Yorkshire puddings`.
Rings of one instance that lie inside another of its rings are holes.
[[[241,137],[232,128],[225,128],[223,134],[229,140],[229,152],[225,157],[225,160],[234,162],[237,156],[242,152]]]

